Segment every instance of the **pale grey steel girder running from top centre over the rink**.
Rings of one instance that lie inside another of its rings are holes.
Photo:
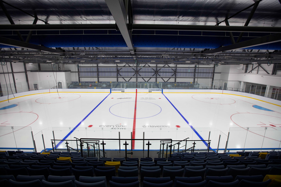
[[[134,51],[131,31],[128,30],[128,19],[123,0],[105,0],[118,28],[130,51]]]

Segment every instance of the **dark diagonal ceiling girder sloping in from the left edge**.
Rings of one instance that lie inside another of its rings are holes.
[[[24,41],[17,41],[13,40],[10,38],[5,38],[0,36],[0,44],[7,45],[7,46],[13,46],[13,47],[21,47],[25,49],[31,49],[31,50],[40,50],[43,52],[49,52],[49,53],[54,53],[54,54],[59,54],[62,55],[64,53],[63,50],[57,50],[57,49],[52,49],[44,46],[38,46],[35,44],[27,43]]]

